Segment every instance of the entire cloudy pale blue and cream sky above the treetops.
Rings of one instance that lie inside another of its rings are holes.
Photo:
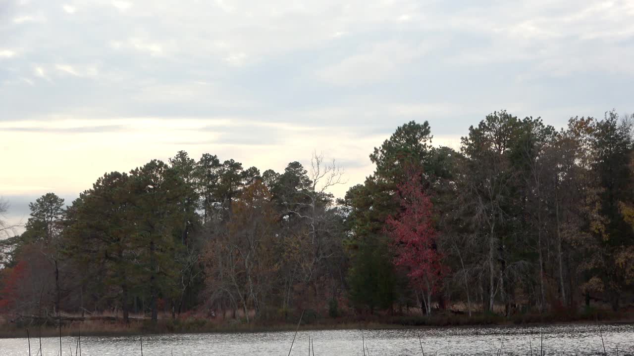
[[[372,174],[398,125],[434,144],[507,109],[631,113],[634,0],[0,0],[5,219],[179,150]]]

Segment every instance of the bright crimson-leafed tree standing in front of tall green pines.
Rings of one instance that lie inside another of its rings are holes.
[[[396,253],[394,264],[409,270],[411,286],[422,295],[422,307],[430,314],[432,295],[441,286],[447,269],[436,248],[432,202],[425,194],[421,176],[420,171],[408,170],[406,181],[398,186],[401,213],[386,220],[386,229]]]

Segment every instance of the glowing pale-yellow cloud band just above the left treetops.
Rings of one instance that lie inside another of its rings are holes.
[[[120,125],[121,129],[115,132],[100,129],[109,125]],[[91,131],[86,132],[86,127],[90,127]],[[213,129],[209,130],[209,127]],[[21,130],[15,130],[16,128]],[[77,134],[77,129],[84,133]],[[245,129],[253,132],[278,132],[279,136],[259,136],[257,150],[235,151],[235,144],[223,142],[220,132],[231,134],[233,130],[243,132]],[[9,147],[6,154],[10,158],[6,164],[14,167],[13,170],[24,170],[37,164],[42,172],[48,172],[46,177],[41,177],[15,175],[4,170],[0,172],[3,186],[12,191],[30,191],[38,190],[42,187],[42,182],[46,182],[46,188],[58,194],[78,193],[89,188],[103,172],[126,171],[143,165],[152,158],[167,160],[183,148],[194,158],[205,152],[213,152],[222,160],[235,158],[245,167],[256,165],[261,170],[274,168],[278,172],[292,160],[307,162],[311,152],[318,149],[339,160],[364,162],[362,165],[346,168],[350,182],[356,184],[363,182],[365,178],[366,166],[369,164],[367,152],[372,149],[373,144],[380,142],[376,140],[382,141],[385,138],[359,137],[352,127],[345,126],[298,127],[293,124],[267,124],[235,118],[183,118],[178,122],[163,118],[117,118],[101,121],[67,118],[52,122],[0,122],[0,132],[3,130],[11,130],[11,137],[6,143]],[[278,138],[282,141],[276,141]],[[191,144],[184,146],[183,141]],[[267,141],[274,144],[267,144]],[[29,144],[25,144],[26,142]],[[60,145],[60,142],[67,144]],[[289,146],[295,149],[293,157],[286,154]],[[74,152],[73,160],[46,159],[67,155],[69,151]],[[85,165],[82,162],[99,164]],[[67,177],[67,172],[74,174]],[[341,187],[335,193],[342,196],[345,189],[345,186]]]

